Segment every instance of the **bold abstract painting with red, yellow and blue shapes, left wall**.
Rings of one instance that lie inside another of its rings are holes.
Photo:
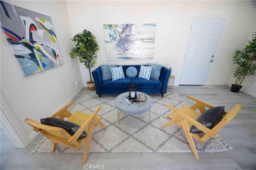
[[[63,64],[50,16],[1,1],[1,28],[24,76]]]

